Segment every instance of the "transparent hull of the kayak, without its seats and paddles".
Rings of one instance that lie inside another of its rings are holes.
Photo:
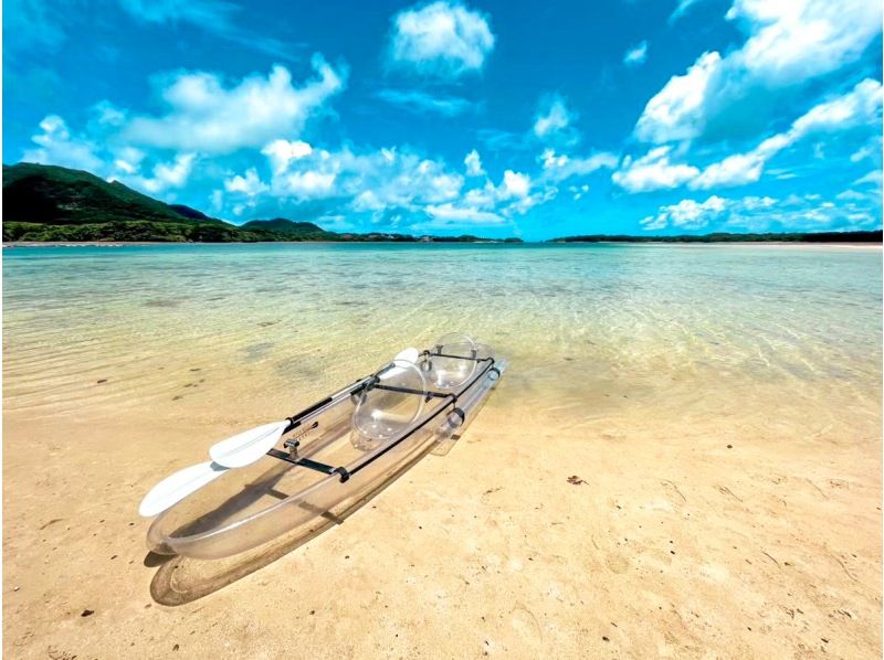
[[[336,511],[370,496],[430,450],[444,453],[454,434],[472,421],[503,374],[506,361],[487,358],[452,396],[430,398],[422,414],[398,437],[372,441],[354,428],[357,396],[303,418],[283,437],[301,464],[274,456],[230,469],[156,518],[148,546],[160,554],[217,560],[257,547],[283,534],[307,536]],[[432,390],[432,383],[429,385]],[[456,409],[455,409],[456,408]],[[272,453],[274,450],[271,450]],[[340,466],[325,473],[304,464]]]

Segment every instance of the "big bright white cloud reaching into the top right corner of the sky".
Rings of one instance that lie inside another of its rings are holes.
[[[727,18],[747,33],[743,46],[724,57],[704,53],[670,78],[644,108],[636,137],[662,143],[726,135],[764,119],[778,91],[855,62],[881,32],[881,11],[867,0],[735,0]]]

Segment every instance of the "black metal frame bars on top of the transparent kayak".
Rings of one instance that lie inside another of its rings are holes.
[[[436,347],[436,351],[434,351],[434,352],[433,351],[423,351],[423,352],[420,353],[420,356],[421,358],[423,358],[423,356],[438,356],[438,358],[450,358],[450,359],[453,359],[453,360],[470,360],[472,362],[475,362],[476,365],[478,365],[478,364],[481,364],[483,362],[486,363],[486,364],[485,364],[484,369],[482,369],[482,371],[480,371],[480,373],[477,375],[473,376],[464,387],[461,387],[461,390],[455,393],[455,392],[432,392],[432,391],[429,391],[429,390],[427,392],[422,392],[420,390],[412,390],[410,387],[394,387],[394,386],[391,386],[391,385],[381,385],[380,384],[380,379],[379,379],[380,374],[382,374],[387,370],[392,369],[394,366],[394,363],[390,362],[389,364],[386,364],[385,366],[382,366],[380,370],[376,371],[375,373],[372,373],[372,374],[370,374],[370,375],[368,375],[366,377],[359,379],[358,381],[356,381],[349,387],[345,387],[340,392],[338,392],[336,394],[333,394],[332,396],[328,396],[328,397],[324,398],[323,401],[319,401],[319,402],[313,404],[312,406],[309,406],[307,408],[304,408],[303,411],[301,411],[296,415],[293,415],[292,417],[288,417],[288,426],[286,426],[285,430],[283,432],[283,435],[285,435],[286,433],[290,433],[290,432],[294,430],[295,428],[297,428],[298,426],[301,426],[301,424],[304,421],[306,421],[306,418],[309,415],[313,415],[314,413],[318,413],[319,411],[322,411],[323,408],[325,408],[325,407],[327,407],[327,406],[329,406],[332,404],[338,403],[340,401],[340,396],[343,394],[349,393],[350,395],[356,395],[356,394],[359,394],[359,393],[362,393],[362,392],[368,392],[370,390],[387,390],[387,391],[390,391],[390,392],[401,392],[403,394],[414,394],[414,395],[419,395],[419,396],[424,396],[427,398],[427,401],[430,401],[431,398],[450,398],[451,400],[448,403],[441,405],[435,411],[433,411],[433,413],[431,415],[428,415],[427,418],[423,419],[420,424],[411,427],[400,438],[397,438],[396,440],[391,441],[383,449],[381,449],[380,451],[378,451],[373,456],[367,458],[362,462],[358,464],[352,469],[348,470],[344,466],[337,466],[336,467],[336,466],[330,466],[330,465],[327,465],[327,464],[324,464],[324,462],[319,462],[319,461],[316,461],[316,460],[311,460],[309,458],[299,457],[297,455],[297,447],[301,445],[301,440],[299,439],[295,439],[295,438],[286,440],[284,443],[284,445],[283,445],[284,447],[286,447],[288,449],[288,453],[285,453],[285,451],[281,450],[281,449],[276,449],[274,447],[273,449],[270,449],[267,451],[267,456],[271,456],[273,458],[278,458],[280,460],[284,460],[286,462],[291,462],[293,465],[301,466],[301,467],[307,468],[309,470],[315,470],[315,471],[322,472],[324,475],[328,475],[328,476],[338,475],[339,478],[340,478],[340,482],[344,483],[351,476],[356,475],[359,470],[361,470],[362,468],[366,468],[367,466],[371,465],[372,462],[378,460],[381,456],[383,456],[385,454],[390,451],[393,447],[396,447],[400,443],[403,443],[404,440],[410,438],[412,435],[414,435],[417,432],[419,432],[421,428],[425,427],[428,424],[430,424],[430,422],[435,419],[441,413],[443,413],[445,411],[448,411],[449,413],[453,413],[453,414],[457,415],[461,418],[461,424],[463,424],[463,422],[465,421],[466,415],[464,414],[464,412],[461,408],[457,407],[457,398],[460,396],[462,396],[466,391],[469,391],[473,385],[475,385],[484,376],[487,376],[487,375],[490,375],[492,373],[494,373],[497,376],[499,376],[501,375],[501,370],[498,370],[494,365],[494,358],[492,358],[492,356],[478,358],[475,349],[472,351],[473,355],[470,356],[470,358],[467,358],[465,355],[450,355],[448,353],[442,353],[441,349],[442,349],[442,347]],[[449,409],[449,406],[451,406],[451,409]]]

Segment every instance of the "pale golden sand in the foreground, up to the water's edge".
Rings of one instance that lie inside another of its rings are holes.
[[[4,656],[881,656],[880,408],[772,384],[532,406],[528,376],[448,456],[214,592],[148,557],[136,508],[248,424],[7,412]]]

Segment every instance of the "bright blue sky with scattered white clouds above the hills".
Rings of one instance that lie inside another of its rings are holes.
[[[3,162],[234,223],[878,228],[870,0],[8,0]]]

